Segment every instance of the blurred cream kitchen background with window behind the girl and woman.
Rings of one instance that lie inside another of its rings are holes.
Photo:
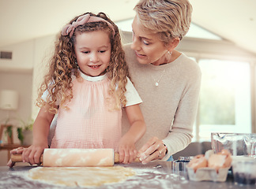
[[[130,43],[137,1],[0,0],[0,92],[18,94],[17,109],[0,109],[0,123],[10,118],[14,143],[20,143],[16,128],[22,121],[36,118],[37,88],[62,26],[80,13],[102,11],[119,25],[122,42]],[[211,132],[256,132],[256,2],[190,2],[192,25],[178,49],[196,60],[202,71],[194,142],[210,141]],[[3,132],[2,143],[6,142]],[[6,161],[7,150],[0,148],[0,165]]]

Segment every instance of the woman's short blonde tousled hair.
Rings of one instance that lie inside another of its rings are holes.
[[[190,28],[192,6],[188,0],[141,0],[134,10],[145,30],[158,34],[164,44],[183,39]]]

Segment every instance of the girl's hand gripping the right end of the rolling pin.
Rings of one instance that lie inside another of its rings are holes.
[[[134,142],[130,139],[127,139],[126,137],[122,137],[117,150],[119,152],[120,163],[129,164],[130,162],[133,162],[137,157],[137,150],[135,148]]]

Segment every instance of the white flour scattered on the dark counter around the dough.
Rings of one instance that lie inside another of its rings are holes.
[[[147,167],[148,166],[148,167]],[[119,166],[114,166],[119,167]],[[28,171],[25,172],[8,172],[8,177],[5,179],[4,185],[1,184],[0,188],[19,188],[19,189],[67,189],[67,188],[89,188],[89,189],[149,189],[149,188],[161,188],[161,189],[182,189],[187,188],[188,180],[185,180],[183,176],[168,173],[168,167],[154,169],[154,166],[138,164],[134,165],[122,165],[123,168],[132,168],[134,176],[129,176],[126,180],[119,181],[118,183],[104,183],[101,186],[95,187],[82,187],[73,184],[73,187],[66,187],[65,185],[59,185],[55,183],[49,183],[47,181],[36,181],[28,177]],[[40,167],[39,167],[40,168]],[[36,169],[32,168],[31,170]],[[165,170],[164,170],[165,169]],[[120,174],[120,172],[119,172]],[[76,174],[72,173],[69,176],[63,177],[63,180],[70,180],[70,177],[75,177]],[[84,175],[84,179],[87,176]],[[97,180],[96,176],[89,177],[91,180]],[[8,186],[8,187],[7,187]]]

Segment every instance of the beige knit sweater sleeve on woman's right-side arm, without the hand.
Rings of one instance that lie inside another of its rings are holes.
[[[189,83],[187,83],[183,96],[179,101],[170,132],[163,139],[164,144],[168,148],[168,154],[164,157],[163,161],[166,161],[172,154],[186,148],[193,138],[193,125],[198,112],[201,86],[200,69],[194,69],[190,76],[192,77],[190,77]]]

